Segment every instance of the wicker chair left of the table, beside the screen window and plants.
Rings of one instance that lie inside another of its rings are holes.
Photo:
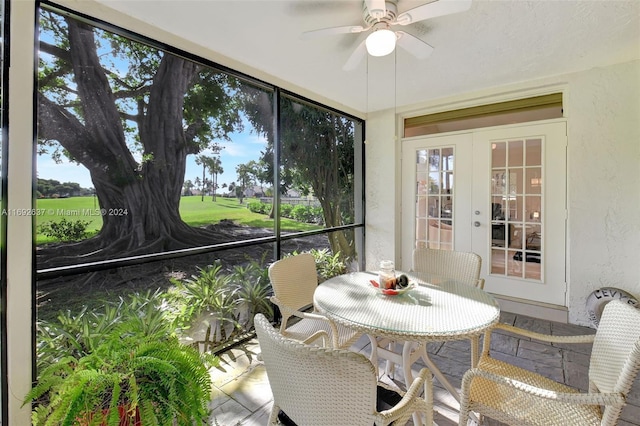
[[[346,327],[333,324],[324,315],[306,312],[313,305],[313,292],[318,286],[318,273],[313,255],[297,254],[278,260],[269,267],[274,295],[271,301],[282,314],[280,332],[300,341],[320,340],[330,336],[334,348],[349,348],[360,337]],[[296,319],[291,320],[291,317]]]

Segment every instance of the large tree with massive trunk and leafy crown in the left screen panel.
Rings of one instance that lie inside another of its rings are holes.
[[[237,80],[52,12],[41,28],[40,149],[86,167],[105,212],[99,234],[65,253],[102,258],[215,242],[181,220],[180,192],[187,156],[241,128]]]

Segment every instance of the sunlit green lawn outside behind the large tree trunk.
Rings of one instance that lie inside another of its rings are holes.
[[[245,200],[246,201],[246,200]],[[102,216],[99,213],[98,200],[94,197],[42,198],[36,201],[36,224],[59,221],[62,218],[89,222],[87,231],[93,235],[102,227]],[[258,228],[273,228],[273,220],[267,216],[250,212],[246,204],[238,203],[235,198],[200,196],[182,197],[180,200],[182,220],[191,226],[204,226],[229,219],[243,225]],[[309,223],[300,223],[291,219],[282,219],[283,231],[310,231],[321,227]],[[54,240],[37,232],[36,244],[53,242]]]

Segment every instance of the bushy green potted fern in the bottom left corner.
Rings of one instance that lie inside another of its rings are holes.
[[[160,316],[152,317],[157,308],[156,303],[142,306],[134,300],[123,307],[124,314],[118,318],[110,318],[113,310],[107,309],[105,315],[95,317],[111,319],[99,338],[62,333],[66,340],[55,342],[73,342],[76,349],[70,351],[63,344],[61,350],[66,354],[47,356],[46,363],[40,365],[37,383],[24,399],[25,404],[34,403],[32,423],[207,424],[208,370],[217,358],[182,345],[167,332]],[[76,323],[93,323],[86,314],[78,318]],[[56,327],[43,328],[52,335],[53,330],[59,330]]]

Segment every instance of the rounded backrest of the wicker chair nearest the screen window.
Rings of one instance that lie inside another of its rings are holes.
[[[310,253],[285,257],[269,266],[269,279],[275,296],[284,305],[300,310],[313,303],[318,286],[316,261]]]

